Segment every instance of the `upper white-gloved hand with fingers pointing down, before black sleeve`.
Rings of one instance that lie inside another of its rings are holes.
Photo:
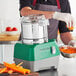
[[[57,20],[66,22],[66,25],[68,28],[74,26],[74,19],[70,13],[55,12],[53,14],[53,19],[57,19]]]

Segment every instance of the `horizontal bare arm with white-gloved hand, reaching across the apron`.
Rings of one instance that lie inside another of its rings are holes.
[[[67,27],[71,27],[74,25],[74,20],[69,13],[60,13],[56,11],[40,11],[33,10],[31,7],[23,7],[20,11],[22,16],[32,15],[32,14],[43,14],[47,19],[56,19],[60,21],[64,21],[67,24]]]

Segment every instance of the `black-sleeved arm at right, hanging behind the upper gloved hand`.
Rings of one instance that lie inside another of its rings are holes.
[[[71,13],[71,8],[68,0],[60,0],[61,4],[61,12],[64,13]],[[66,27],[66,23],[60,21],[59,22],[59,31],[60,31],[60,38],[64,44],[68,44],[73,37],[70,33],[70,30]]]

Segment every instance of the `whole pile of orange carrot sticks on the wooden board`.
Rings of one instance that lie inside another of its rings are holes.
[[[13,72],[18,72],[21,74],[26,74],[26,73],[30,73],[29,69],[25,69],[22,66],[20,66],[21,64],[23,64],[23,62],[19,63],[18,65],[16,65],[15,63],[13,64],[9,64],[7,62],[4,62],[4,66],[5,68],[1,68],[0,69],[0,74],[1,73],[9,73],[12,74]]]

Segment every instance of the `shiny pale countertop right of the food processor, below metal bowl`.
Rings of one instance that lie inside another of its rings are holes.
[[[39,73],[40,76],[76,76],[76,58],[64,58],[60,55],[57,71],[46,70]]]

